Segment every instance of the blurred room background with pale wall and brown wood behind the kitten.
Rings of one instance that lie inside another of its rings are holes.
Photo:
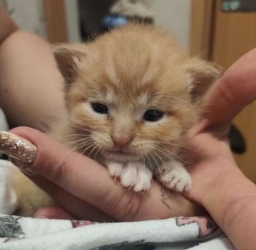
[[[48,42],[87,42],[131,20],[162,26],[190,54],[227,69],[256,46],[255,0],[0,0],[23,30]],[[256,79],[255,79],[256,84]],[[256,102],[235,117],[230,145],[256,182]]]

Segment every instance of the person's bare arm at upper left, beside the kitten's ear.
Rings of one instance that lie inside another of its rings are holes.
[[[18,30],[0,7],[0,107],[10,126],[42,130],[65,115],[62,82],[50,45]]]

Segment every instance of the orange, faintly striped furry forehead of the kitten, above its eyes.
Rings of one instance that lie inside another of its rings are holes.
[[[114,30],[91,45],[83,75],[94,79],[107,102],[146,103],[154,93],[177,93],[188,80],[183,54],[166,34],[137,26]],[[94,83],[89,89],[95,89]],[[143,94],[142,94],[143,93]]]

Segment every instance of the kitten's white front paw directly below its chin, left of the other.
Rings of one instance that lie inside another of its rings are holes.
[[[152,172],[140,162],[130,162],[122,170],[121,183],[126,188],[133,187],[135,192],[150,189]]]

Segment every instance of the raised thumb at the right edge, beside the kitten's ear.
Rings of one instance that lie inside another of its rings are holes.
[[[206,101],[206,126],[230,123],[256,98],[256,49],[251,50],[219,78]]]

